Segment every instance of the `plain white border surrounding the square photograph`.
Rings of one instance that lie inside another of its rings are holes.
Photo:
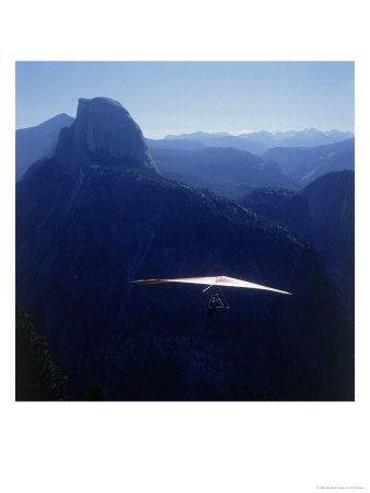
[[[369,3],[5,2],[1,15],[4,493],[369,490]],[[355,60],[355,403],[14,403],[14,61]],[[7,317],[4,317],[7,313]],[[9,349],[11,348],[11,351]]]

